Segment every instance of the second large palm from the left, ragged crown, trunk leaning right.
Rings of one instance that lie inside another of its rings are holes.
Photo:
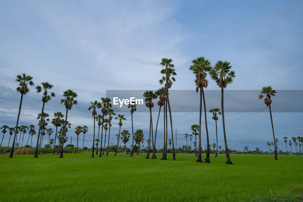
[[[48,90],[50,90],[50,89],[52,89],[52,87],[54,87],[52,84],[50,84],[48,82],[42,82],[41,84],[42,84],[42,87],[41,86],[36,86],[36,90],[37,90],[37,93],[43,92],[43,96],[42,96],[42,100],[41,100],[43,102],[41,114],[44,114],[43,111],[44,111],[45,103],[47,103],[51,99],[51,96],[55,97],[55,93],[54,92],[51,92],[51,93],[48,92]],[[48,93],[50,93],[51,95],[49,96]],[[43,117],[41,116],[34,158],[38,158],[38,143],[39,143],[40,131],[43,128],[42,118]],[[41,147],[41,145],[40,145],[40,147]],[[40,153],[40,149],[39,149],[39,153]]]

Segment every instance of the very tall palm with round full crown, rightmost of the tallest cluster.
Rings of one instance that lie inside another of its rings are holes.
[[[210,72],[211,79],[217,82],[217,85],[221,87],[221,111],[222,111],[222,125],[223,125],[223,135],[225,143],[225,153],[226,153],[226,164],[232,164],[227,147],[226,133],[225,133],[225,118],[224,118],[224,100],[223,100],[223,88],[226,88],[227,84],[233,82],[235,78],[235,72],[230,71],[231,65],[229,62],[222,62],[219,60],[216,62],[214,68]]]

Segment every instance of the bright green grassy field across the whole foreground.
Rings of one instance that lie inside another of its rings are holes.
[[[211,163],[195,154],[63,156],[0,155],[0,201],[303,201],[303,157],[235,154],[225,165],[225,154]]]

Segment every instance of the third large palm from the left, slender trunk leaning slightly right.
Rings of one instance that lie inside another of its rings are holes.
[[[63,97],[65,97],[65,98],[61,99],[61,104],[63,103],[63,105],[65,106],[66,114],[65,114],[65,123],[64,123],[63,133],[62,133],[62,135],[63,135],[62,139],[64,139],[64,136],[65,136],[68,109],[71,110],[73,105],[78,104],[78,101],[75,100],[75,98],[78,97],[78,95],[76,92],[72,91],[71,89],[64,91]],[[61,144],[61,153],[60,153],[59,158],[63,158],[63,144],[64,144],[64,141],[62,141],[62,144]]]

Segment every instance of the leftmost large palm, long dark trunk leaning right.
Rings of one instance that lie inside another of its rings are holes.
[[[13,145],[12,145],[11,153],[8,158],[13,157],[15,139],[16,139],[16,135],[17,135],[17,131],[18,131],[19,116],[20,116],[20,112],[21,112],[22,98],[23,98],[23,95],[26,95],[27,93],[29,93],[28,85],[34,86],[34,82],[32,82],[32,79],[33,79],[32,76],[26,76],[25,73],[22,73],[22,76],[20,74],[18,74],[15,79],[15,81],[19,83],[18,87],[16,88],[16,91],[21,94],[21,99],[20,99],[19,112],[18,112],[17,123],[16,123],[16,128],[15,128],[15,135],[14,135],[14,139],[13,139]]]

